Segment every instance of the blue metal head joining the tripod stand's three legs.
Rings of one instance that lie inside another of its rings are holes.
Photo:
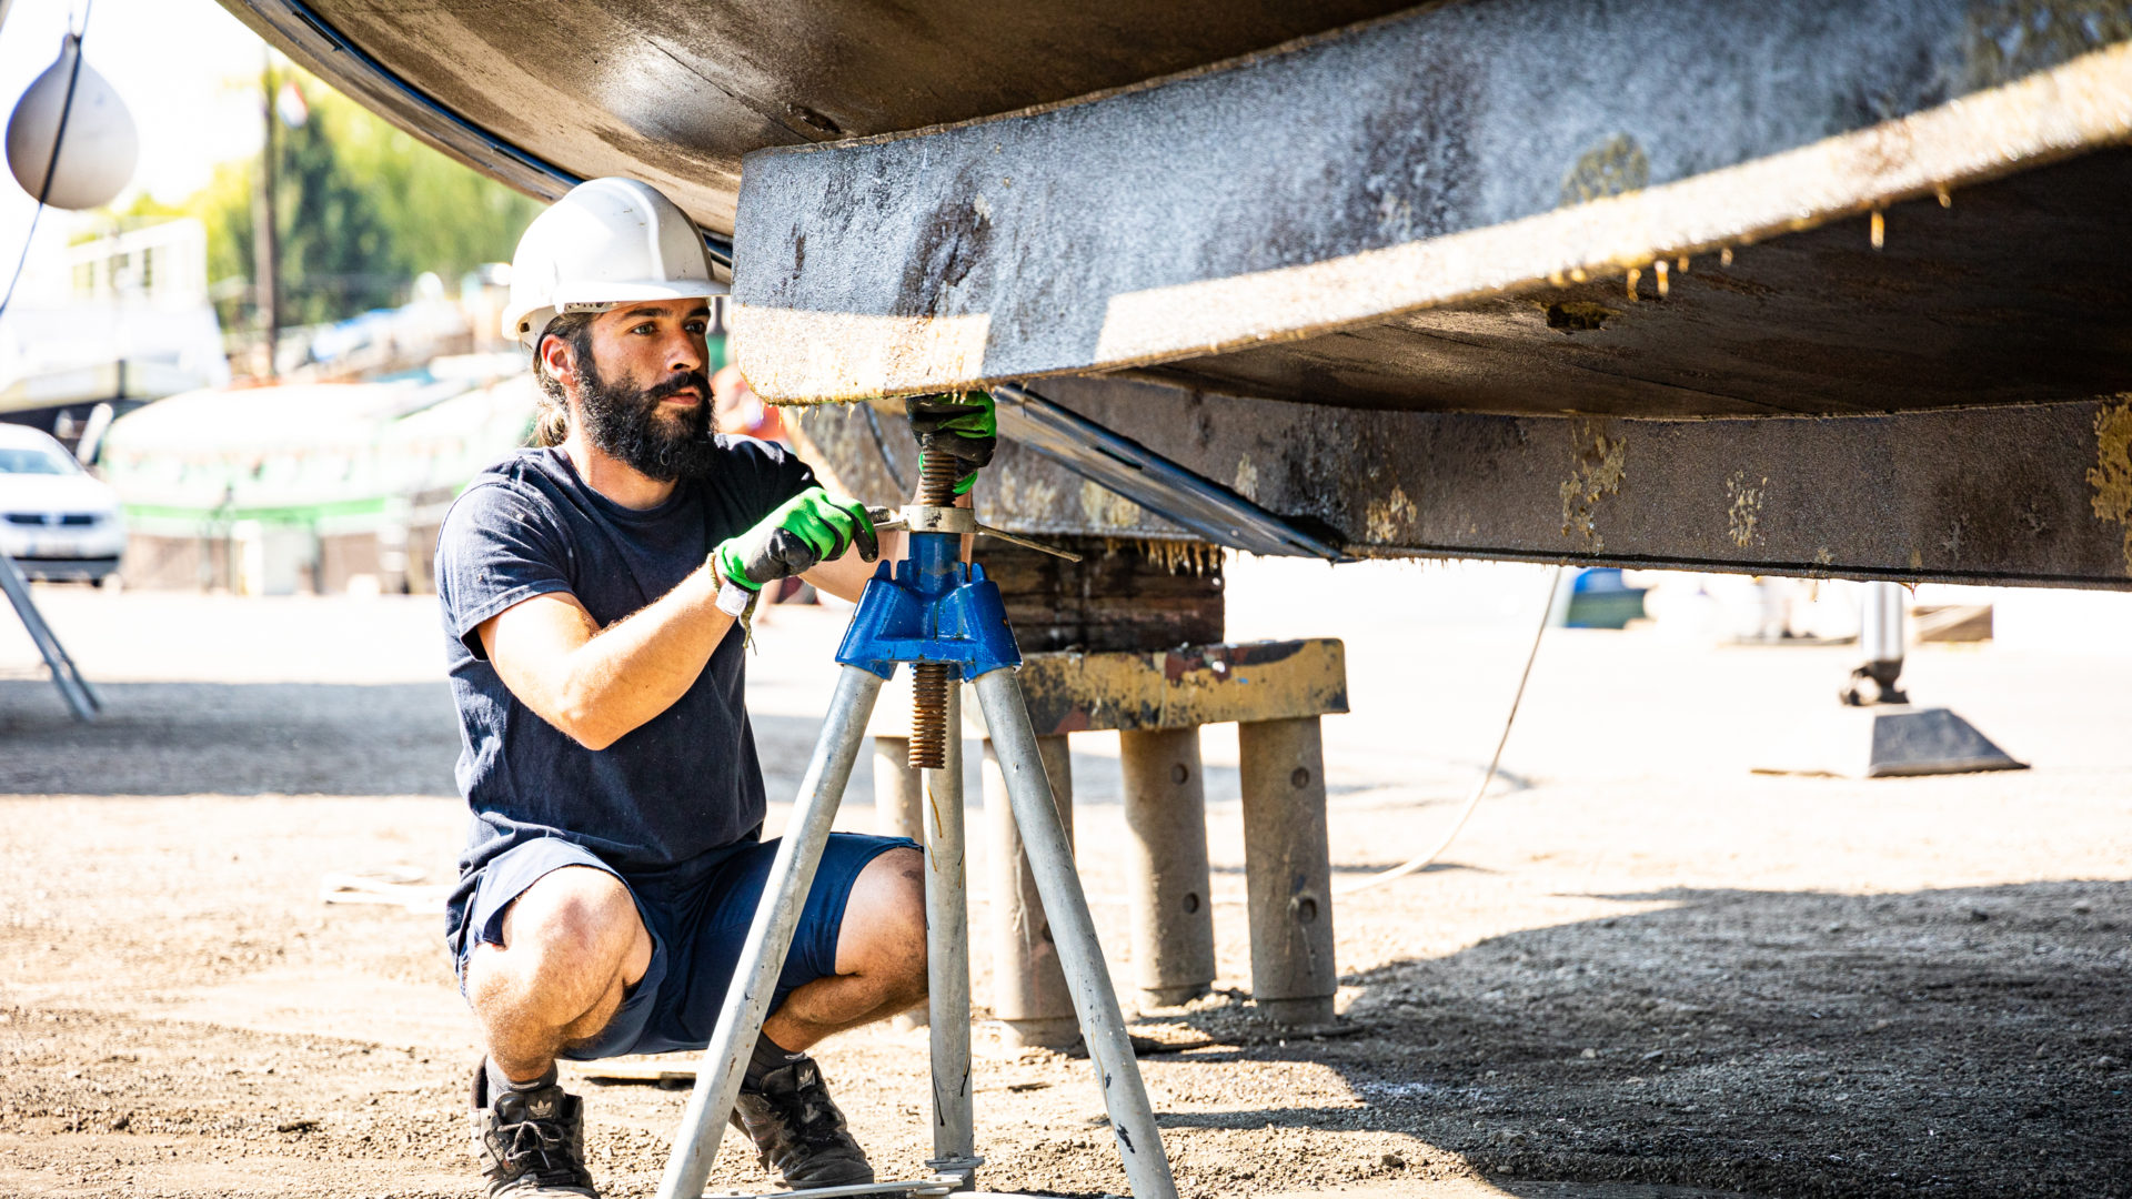
[[[953,664],[964,681],[1021,666],[1000,585],[962,561],[959,542],[955,533],[910,533],[910,557],[881,563],[859,595],[836,659],[883,678],[895,676],[898,661]]]

